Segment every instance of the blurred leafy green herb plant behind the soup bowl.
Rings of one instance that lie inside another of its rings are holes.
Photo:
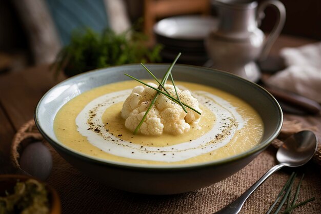
[[[101,34],[90,28],[76,30],[71,42],[56,57],[51,69],[72,76],[88,70],[128,63],[157,62],[160,45],[146,46],[147,36],[138,31],[116,34],[105,29]]]

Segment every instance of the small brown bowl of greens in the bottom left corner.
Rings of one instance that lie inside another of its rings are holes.
[[[0,214],[60,214],[57,192],[48,184],[32,177],[0,175]]]

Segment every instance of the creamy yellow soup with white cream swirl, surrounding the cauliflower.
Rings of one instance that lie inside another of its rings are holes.
[[[153,82],[145,80],[145,82]],[[133,134],[121,116],[123,103],[139,83],[97,87],[65,104],[54,120],[61,143],[93,157],[137,164],[188,164],[224,159],[247,151],[263,136],[258,113],[234,95],[213,87],[179,82],[198,99],[202,115],[188,132]]]

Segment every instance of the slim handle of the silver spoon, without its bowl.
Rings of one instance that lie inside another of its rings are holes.
[[[271,174],[284,167],[282,164],[278,164],[273,166],[269,171],[267,171],[264,176],[262,176],[255,184],[253,184],[248,190],[246,190],[243,194],[241,194],[235,201],[230,203],[229,205],[223,207],[218,210],[214,214],[237,214],[242,208],[244,202],[249,198],[249,196],[254,192],[254,190],[259,187],[265,180],[267,180]]]

